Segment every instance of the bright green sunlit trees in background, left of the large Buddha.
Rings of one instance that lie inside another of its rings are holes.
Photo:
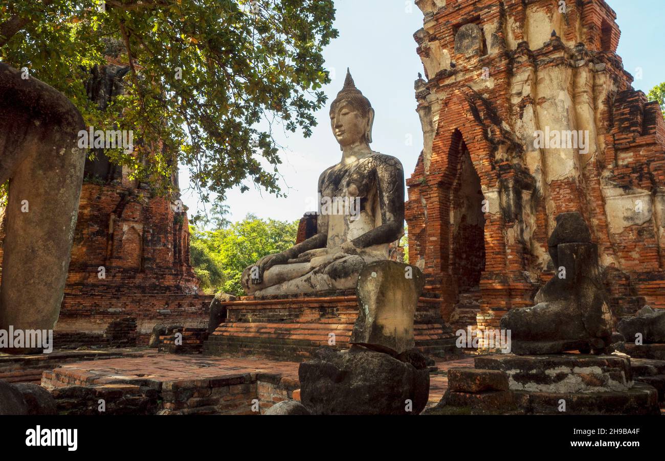
[[[257,260],[295,245],[298,221],[275,221],[247,215],[243,221],[215,231],[190,227],[190,254],[204,292],[244,293],[243,270]]]

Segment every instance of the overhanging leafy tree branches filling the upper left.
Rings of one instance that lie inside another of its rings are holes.
[[[141,145],[108,156],[162,192],[178,157],[204,202],[247,177],[279,195],[271,127],[311,134],[333,20],[332,0],[17,0],[0,9],[0,58],[63,92],[87,126],[134,130]],[[131,70],[102,112],[85,82],[111,43]]]

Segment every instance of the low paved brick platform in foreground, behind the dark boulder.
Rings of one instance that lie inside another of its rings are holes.
[[[446,392],[446,371],[472,363],[472,357],[437,359],[430,374],[428,407]],[[291,361],[146,353],[67,363],[46,371],[41,384],[51,390],[59,414],[98,415],[101,398],[106,414],[134,409],[139,414],[258,415],[279,401],[300,399],[298,367]],[[252,411],[256,401],[259,412]]]

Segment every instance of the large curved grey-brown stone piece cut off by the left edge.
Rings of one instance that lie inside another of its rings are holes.
[[[83,119],[63,94],[1,62],[0,100],[0,182],[9,179],[0,329],[51,329],[78,214]]]

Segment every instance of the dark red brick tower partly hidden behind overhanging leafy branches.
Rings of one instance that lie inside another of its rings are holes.
[[[115,48],[114,48],[115,46]],[[122,93],[129,71],[109,43],[104,66],[86,83],[88,97],[102,109]],[[59,343],[134,325],[139,342],[156,323],[198,325],[209,297],[196,296],[190,264],[186,207],[178,195],[158,197],[150,185],[131,179],[128,169],[94,149],[86,159],[65,297],[56,325]],[[172,178],[178,189],[178,177]],[[121,335],[122,335],[121,334]],[[108,335],[108,334],[107,334]]]

